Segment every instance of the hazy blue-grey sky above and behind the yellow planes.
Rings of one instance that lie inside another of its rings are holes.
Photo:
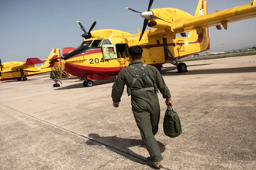
[[[135,33],[142,29],[144,19],[139,12],[147,11],[149,0],[1,0],[0,58],[2,62],[26,61],[29,57],[45,59],[53,48],[77,47],[82,30],[119,29]],[[253,0],[208,0],[208,12],[244,5]],[[151,8],[178,8],[192,15],[198,0],[154,0]],[[147,27],[147,29],[149,29]],[[230,23],[227,30],[209,29],[209,52],[256,46],[256,18]],[[223,44],[223,46],[222,46]]]

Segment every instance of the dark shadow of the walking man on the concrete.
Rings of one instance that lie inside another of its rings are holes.
[[[114,151],[117,154],[130,159],[133,162],[137,162],[142,165],[147,165],[146,158],[144,158],[141,155],[137,155],[136,153],[134,153],[129,149],[130,147],[134,147],[134,146],[142,147],[141,146],[142,140],[118,138],[116,136],[103,137],[103,136],[99,136],[99,134],[88,134],[88,137],[90,139],[86,141],[87,145],[99,145],[99,146],[103,145],[106,148],[108,148],[110,151]],[[165,150],[164,144],[162,144],[159,141],[157,141],[157,144],[161,152],[164,152]]]

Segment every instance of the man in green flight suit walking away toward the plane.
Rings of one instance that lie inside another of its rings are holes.
[[[119,72],[116,82],[112,87],[112,101],[114,107],[119,107],[119,102],[127,86],[127,93],[131,95],[133,115],[140,129],[141,138],[150,154],[147,163],[154,168],[161,168],[160,148],[154,135],[158,131],[160,105],[157,91],[160,90],[166,99],[165,104],[171,104],[171,94],[166,87],[159,71],[140,61],[143,49],[140,46],[129,48],[130,65]]]

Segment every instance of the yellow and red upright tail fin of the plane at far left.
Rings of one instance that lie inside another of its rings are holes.
[[[60,49],[52,49],[47,59],[44,59],[43,67],[53,67],[54,63],[59,63],[61,66],[61,53]]]

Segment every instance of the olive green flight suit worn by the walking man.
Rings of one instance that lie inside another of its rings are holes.
[[[119,72],[116,82],[112,87],[112,101],[115,103],[121,101],[120,99],[123,94],[124,85],[126,84],[127,87],[130,87],[134,74],[136,74],[134,72],[134,67],[141,70],[144,63],[137,61],[130,63],[130,65]],[[157,85],[158,90],[160,90],[164,98],[171,98],[170,91],[168,90],[168,87],[166,87],[163,77],[157,68],[147,65],[144,67],[144,73],[146,73],[150,77],[150,80]],[[132,90],[139,90],[142,88],[149,89],[148,87],[152,87],[152,84],[146,77],[137,78]],[[163,158],[157,145],[157,141],[154,138],[154,134],[157,134],[158,131],[160,117],[160,105],[156,90],[139,90],[137,92],[132,92],[131,104],[135,121],[140,129],[141,137],[150,154],[150,158],[152,158],[154,162],[160,162]]]

